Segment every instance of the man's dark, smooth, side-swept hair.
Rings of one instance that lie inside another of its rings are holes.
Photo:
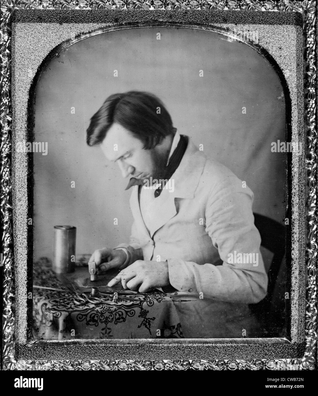
[[[170,114],[155,95],[141,91],[115,93],[105,100],[90,119],[86,131],[87,144],[94,146],[102,143],[114,122],[140,139],[146,150],[155,147],[165,136],[176,131]]]

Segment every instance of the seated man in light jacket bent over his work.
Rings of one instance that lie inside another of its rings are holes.
[[[245,182],[207,160],[145,92],[109,96],[91,118],[87,143],[100,145],[133,186],[129,245],[90,258],[121,270],[109,286],[173,293],[186,338],[260,336],[248,304],[265,297],[267,275]]]

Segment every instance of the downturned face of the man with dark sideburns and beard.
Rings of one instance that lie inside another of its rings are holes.
[[[163,154],[159,145],[150,150],[120,124],[114,123],[101,143],[102,151],[109,161],[116,162],[123,177],[136,179],[162,179],[169,152]]]

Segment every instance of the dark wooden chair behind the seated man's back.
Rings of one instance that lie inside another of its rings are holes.
[[[267,295],[259,303],[250,304],[249,308],[259,318],[268,335],[274,337],[277,336],[274,329],[280,333],[285,325],[285,304],[272,306],[276,280],[285,255],[285,227],[269,217],[253,214],[255,226],[261,235],[261,246],[272,252],[273,258],[268,272]]]

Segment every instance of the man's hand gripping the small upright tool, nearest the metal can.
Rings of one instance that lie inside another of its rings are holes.
[[[107,271],[111,268],[119,268],[121,270],[125,268],[124,263],[126,259],[127,255],[125,251],[104,247],[103,249],[95,250],[90,256],[89,262],[95,261],[96,267],[102,271]]]

